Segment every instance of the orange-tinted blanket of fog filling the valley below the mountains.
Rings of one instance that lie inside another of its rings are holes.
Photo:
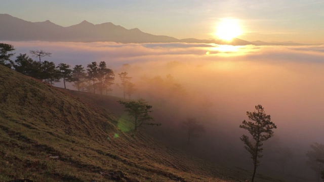
[[[246,111],[261,104],[277,129],[264,142],[264,164],[257,170],[282,172],[282,159],[275,150],[291,148],[293,157],[287,160],[285,174],[315,178],[305,154],[310,144],[324,143],[324,45],[4,43],[14,45],[16,56],[36,49],[51,52],[52,57],[43,60],[56,65],[86,68],[93,61],[105,61],[115,72],[115,83],[120,82],[117,73],[127,71],[137,86],[132,98],[149,101],[155,120],[163,123],[154,127],[156,135],[175,145],[185,143],[179,123],[196,117],[206,132],[193,139],[193,153],[248,170],[252,159],[239,140],[246,133],[239,125],[248,120]],[[111,95],[123,96],[119,88],[113,89]]]

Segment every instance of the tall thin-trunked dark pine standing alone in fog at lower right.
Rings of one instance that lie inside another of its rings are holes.
[[[239,125],[240,128],[247,129],[255,141],[254,143],[251,142],[249,136],[245,134],[240,137],[240,140],[246,145],[244,148],[252,155],[251,158],[253,159],[254,165],[252,182],[254,182],[257,167],[260,165],[258,158],[263,156],[261,154],[263,151],[263,142],[270,139],[271,136],[273,136],[272,129],[277,128],[277,126],[270,121],[270,115],[264,113],[264,108],[261,105],[256,106],[255,109],[256,111],[254,112],[247,112],[251,121],[244,120],[242,125]]]

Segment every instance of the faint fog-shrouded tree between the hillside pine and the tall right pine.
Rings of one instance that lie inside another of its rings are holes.
[[[188,118],[185,121],[181,122],[182,129],[188,131],[188,144],[190,144],[190,138],[198,137],[201,132],[205,131],[203,125],[201,125],[196,118]]]

